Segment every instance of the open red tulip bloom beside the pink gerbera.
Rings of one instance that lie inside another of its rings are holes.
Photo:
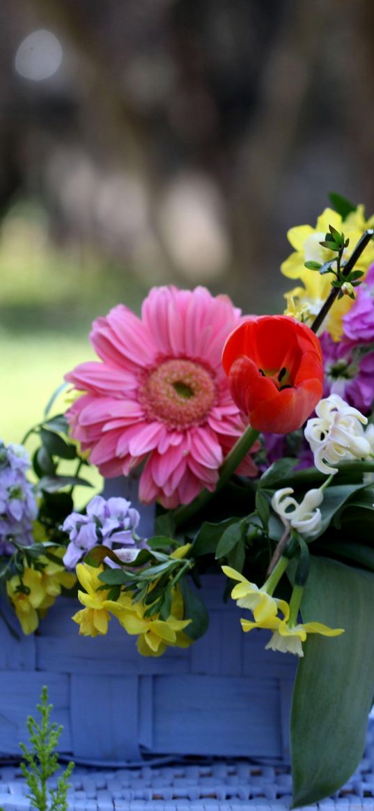
[[[289,315],[248,318],[227,338],[222,364],[231,397],[257,431],[295,431],[322,397],[320,341]]]

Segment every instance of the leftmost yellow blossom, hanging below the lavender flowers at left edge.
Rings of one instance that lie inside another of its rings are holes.
[[[35,569],[24,569],[22,584],[28,590],[27,594],[18,590],[21,586],[21,579],[18,574],[15,574],[6,582],[6,591],[21,628],[24,634],[28,635],[36,631],[39,624],[37,609],[41,607],[45,599],[45,588],[41,573]]]

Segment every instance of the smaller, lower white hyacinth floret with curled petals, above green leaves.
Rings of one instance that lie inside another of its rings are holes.
[[[322,516],[319,506],[324,500],[322,488],[308,490],[301,504],[293,496],[292,487],[277,490],[272,498],[275,513],[282,518],[285,526],[292,526],[302,534],[313,534],[320,530]]]

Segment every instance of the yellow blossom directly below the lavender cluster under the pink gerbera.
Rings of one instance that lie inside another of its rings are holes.
[[[105,634],[108,630],[110,612],[115,612],[118,616],[119,601],[108,600],[108,590],[99,590],[103,585],[99,580],[99,574],[104,571],[103,566],[89,566],[87,563],[79,563],[76,567],[76,575],[84,591],[78,592],[78,599],[84,605],[71,617],[79,624],[80,633],[84,637],[97,637],[98,634]],[[123,595],[121,598],[121,608],[124,605],[131,606],[131,598]],[[119,619],[119,616],[118,616]]]

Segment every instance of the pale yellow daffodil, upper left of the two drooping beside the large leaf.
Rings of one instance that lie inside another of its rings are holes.
[[[252,611],[256,620],[255,624],[262,624],[264,621],[276,616],[279,609],[286,616],[289,610],[288,603],[269,594],[266,590],[266,584],[259,589],[256,583],[251,583],[246,577],[243,577],[243,574],[231,569],[231,566],[222,566],[222,571],[226,574],[226,577],[239,581],[238,585],[234,586],[231,597],[236,600],[236,604],[240,608],[249,608]]]

